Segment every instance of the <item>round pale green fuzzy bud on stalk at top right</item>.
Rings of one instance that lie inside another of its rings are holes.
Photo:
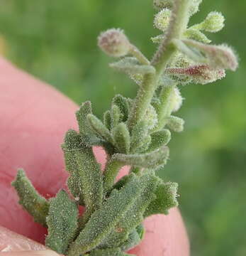
[[[225,18],[218,11],[212,11],[201,23],[201,29],[208,32],[218,32],[225,26]]]

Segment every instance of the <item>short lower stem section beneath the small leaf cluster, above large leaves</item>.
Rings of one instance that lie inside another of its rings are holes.
[[[106,193],[114,184],[118,171],[123,164],[120,161],[108,160],[104,171],[104,192]]]

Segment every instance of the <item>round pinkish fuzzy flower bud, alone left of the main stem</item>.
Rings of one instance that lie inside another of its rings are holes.
[[[113,57],[122,57],[130,51],[131,44],[121,29],[111,28],[98,38],[101,50]]]

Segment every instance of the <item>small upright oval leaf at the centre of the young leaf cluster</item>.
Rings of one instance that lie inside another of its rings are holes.
[[[125,123],[121,122],[112,131],[113,140],[119,152],[128,154],[130,151],[130,134]]]

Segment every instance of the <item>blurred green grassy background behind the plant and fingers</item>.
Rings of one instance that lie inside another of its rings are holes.
[[[152,0],[0,0],[0,52],[20,68],[49,82],[77,103],[90,99],[101,116],[116,93],[134,97],[131,80],[108,68],[96,47],[100,31],[125,33],[148,57]],[[192,255],[246,255],[246,1],[206,0],[191,22],[222,11],[226,27],[209,35],[240,55],[240,68],[211,85],[181,88],[178,116],[186,129],[174,134],[171,159],[160,176],[177,181]]]

